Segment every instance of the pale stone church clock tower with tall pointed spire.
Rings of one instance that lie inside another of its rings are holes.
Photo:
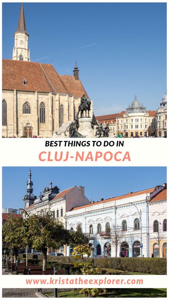
[[[17,30],[14,33],[15,45],[13,49],[13,60],[30,61],[30,52],[28,49],[29,34],[26,31],[23,3],[20,8],[20,15]]]

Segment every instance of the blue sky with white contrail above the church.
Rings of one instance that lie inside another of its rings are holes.
[[[20,5],[2,4],[3,58],[12,58]],[[73,75],[77,60],[95,116],[125,110],[135,94],[147,110],[159,107],[166,91],[166,3],[24,3],[24,12],[31,61],[49,56],[39,62]]]

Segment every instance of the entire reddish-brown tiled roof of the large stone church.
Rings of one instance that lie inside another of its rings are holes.
[[[23,84],[26,79],[27,84]],[[30,61],[2,60],[2,89],[69,94],[86,94],[80,80],[74,76],[59,76],[52,64]],[[88,95],[87,95],[88,97]]]

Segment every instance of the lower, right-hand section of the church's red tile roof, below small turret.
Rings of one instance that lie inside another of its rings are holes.
[[[69,75],[59,75],[59,77],[64,83],[64,85],[69,89],[71,95],[79,98],[82,97],[83,94],[85,94],[86,97],[89,98],[80,79],[75,80],[74,76],[69,76]]]

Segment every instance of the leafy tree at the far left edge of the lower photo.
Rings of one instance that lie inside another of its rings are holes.
[[[25,248],[28,244],[28,227],[22,215],[9,214],[5,224],[2,226],[3,249],[14,248],[14,262],[17,259],[18,249]]]

